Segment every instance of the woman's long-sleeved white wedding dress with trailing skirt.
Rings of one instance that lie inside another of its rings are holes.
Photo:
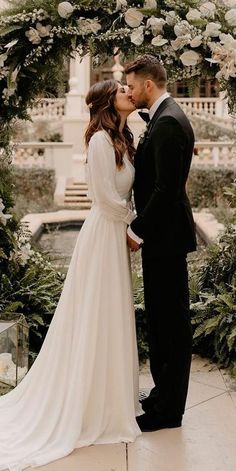
[[[110,138],[99,131],[87,170],[93,205],[46,339],[22,382],[0,398],[0,470],[44,465],[90,444],[132,442],[141,433],[126,243],[134,168],[125,157],[117,169]]]

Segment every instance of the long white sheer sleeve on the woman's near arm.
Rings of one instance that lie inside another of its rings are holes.
[[[88,169],[94,203],[107,218],[130,224],[135,214],[116,190],[115,152],[105,131],[96,132],[89,142]]]

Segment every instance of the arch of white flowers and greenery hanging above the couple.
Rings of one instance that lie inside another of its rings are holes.
[[[156,55],[169,80],[216,77],[236,108],[236,0],[24,0],[0,19],[1,119],[24,117],[65,57]]]

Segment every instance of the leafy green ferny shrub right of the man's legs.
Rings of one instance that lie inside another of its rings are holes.
[[[191,266],[194,350],[236,372],[236,228]]]

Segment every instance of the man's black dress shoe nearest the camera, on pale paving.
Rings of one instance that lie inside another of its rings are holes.
[[[151,413],[146,413],[136,417],[136,420],[142,432],[154,432],[155,430],[181,427],[182,425],[182,416],[158,418]]]

